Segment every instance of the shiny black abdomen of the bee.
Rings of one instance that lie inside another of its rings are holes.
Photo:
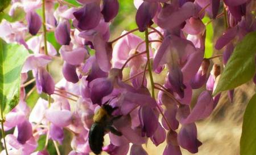
[[[104,141],[105,128],[100,123],[92,124],[89,131],[89,145],[90,149],[95,154],[102,152],[103,141]]]

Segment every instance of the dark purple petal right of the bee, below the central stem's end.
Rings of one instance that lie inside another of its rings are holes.
[[[139,109],[139,121],[142,126],[142,136],[151,137],[158,128],[158,118],[149,106],[141,106]]]

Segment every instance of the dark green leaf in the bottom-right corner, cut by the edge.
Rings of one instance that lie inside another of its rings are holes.
[[[256,94],[251,98],[243,115],[242,136],[240,139],[240,154],[256,154]]]

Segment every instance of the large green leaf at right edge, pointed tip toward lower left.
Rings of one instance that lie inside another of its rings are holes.
[[[256,32],[239,42],[220,76],[213,96],[236,88],[251,80],[255,74]]]

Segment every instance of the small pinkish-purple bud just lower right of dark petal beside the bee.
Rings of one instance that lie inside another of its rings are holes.
[[[166,140],[166,130],[158,123],[158,129],[155,131],[154,135],[150,137],[151,141],[156,145],[162,144]]]

